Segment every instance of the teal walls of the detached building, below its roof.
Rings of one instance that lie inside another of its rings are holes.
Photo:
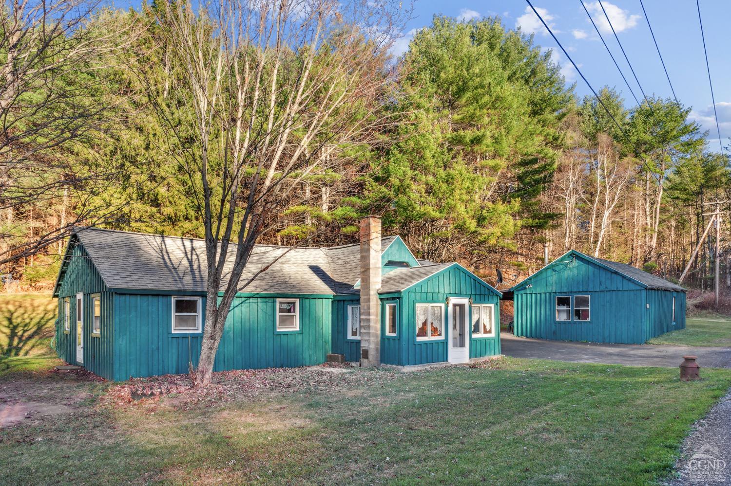
[[[516,286],[515,336],[643,344],[651,337],[685,327],[685,293],[646,290],[591,261],[570,260],[569,256],[551,263],[530,279],[530,288],[528,282]],[[591,296],[591,320],[556,321],[556,297],[576,295]],[[675,326],[671,325],[673,296]],[[646,304],[650,304],[649,309]]]

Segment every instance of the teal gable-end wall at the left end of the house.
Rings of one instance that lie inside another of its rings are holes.
[[[67,271],[58,288],[58,316],[56,321],[56,352],[58,358],[70,364],[82,365],[100,377],[112,379],[114,354],[114,304],[112,293],[107,290],[102,277],[96,271],[82,245],[72,248]],[[83,293],[83,363],[76,360],[76,294]],[[102,329],[96,335],[91,332],[93,309],[91,297],[99,295],[102,312]],[[64,331],[64,299],[70,301],[70,331]]]

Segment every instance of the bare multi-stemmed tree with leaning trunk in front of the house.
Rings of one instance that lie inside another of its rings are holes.
[[[190,180],[205,229],[207,301],[194,383],[211,382],[224,323],[257,239],[312,174],[341,171],[372,142],[393,78],[400,3],[223,0],[159,12],[175,104],[151,105]],[[143,79],[149,71],[140,68]],[[154,80],[149,79],[151,89]],[[296,199],[296,198],[295,198]]]

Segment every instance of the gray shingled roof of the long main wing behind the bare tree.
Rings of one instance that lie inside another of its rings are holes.
[[[77,231],[75,235],[110,288],[205,291],[207,271],[202,239],[96,228]],[[382,251],[397,237],[383,238]],[[229,252],[228,269],[234,252],[235,249]],[[240,282],[248,281],[269,264],[270,268],[257,275],[243,291],[360,293],[353,288],[360,278],[357,243],[326,248],[256,245]],[[226,279],[224,271],[224,282]]]

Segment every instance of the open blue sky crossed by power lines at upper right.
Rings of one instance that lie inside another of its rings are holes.
[[[548,22],[561,44],[569,50],[569,55],[581,69],[587,80],[597,90],[603,85],[617,88],[624,96],[628,106],[635,104],[621,75],[617,71],[604,45],[596,35],[579,0],[531,0]],[[599,3],[584,0],[594,22],[604,36],[620,68],[641,100],[642,94],[629,71],[624,56],[614,39],[604,18]],[[655,45],[652,41],[647,20],[643,15],[639,0],[602,0],[602,4],[614,26],[624,49],[635,68],[648,96],[670,97],[670,85],[662,70]],[[692,118],[704,130],[709,131],[709,149],[719,150],[716,135],[716,122],[713,118],[711,90],[708,87],[708,74],[705,68],[703,45],[698,23],[698,12],[692,0],[644,0],[660,52],[673,82],[678,100],[693,108]],[[716,110],[721,126],[721,139],[729,144],[731,137],[731,64],[727,62],[727,46],[731,39],[728,18],[731,16],[731,2],[727,0],[701,0],[700,8],[708,48],[708,62],[711,65],[713,91],[716,96]],[[431,24],[433,15],[450,15],[461,20],[471,20],[488,15],[499,15],[505,26],[520,26],[524,32],[535,34],[535,42],[544,48],[554,50],[553,58],[561,65],[562,72],[569,82],[576,81],[576,92],[580,96],[590,93],[583,80],[578,77],[563,53],[558,53],[558,45],[550,37],[537,17],[520,0],[488,0],[450,2],[416,0],[414,19],[406,26],[405,35],[399,39],[394,50],[404,52],[408,41],[415,31]]]

